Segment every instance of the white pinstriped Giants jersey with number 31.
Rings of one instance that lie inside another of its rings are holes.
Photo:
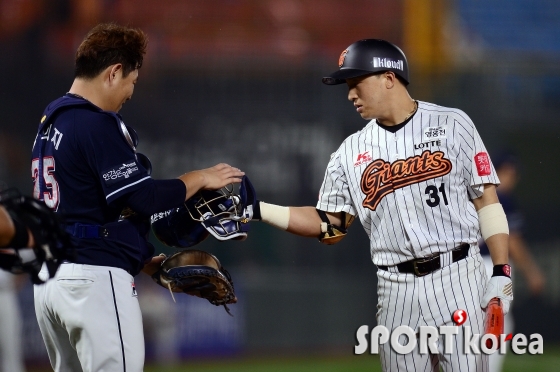
[[[395,131],[395,129],[397,129]],[[418,102],[404,125],[375,120],[332,155],[317,208],[358,216],[376,265],[392,266],[480,239],[471,198],[498,178],[470,118]]]

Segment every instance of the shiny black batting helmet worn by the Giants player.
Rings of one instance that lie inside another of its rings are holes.
[[[340,70],[323,78],[327,85],[343,84],[345,79],[375,72],[392,71],[408,85],[408,62],[396,45],[381,39],[356,41],[338,59]]]

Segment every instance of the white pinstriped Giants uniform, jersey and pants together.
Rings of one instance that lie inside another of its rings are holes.
[[[403,124],[385,127],[371,121],[349,136],[333,154],[317,208],[358,216],[370,236],[377,271],[377,323],[394,329],[408,325],[452,325],[457,309],[467,311],[465,326],[483,332],[480,298],[487,279],[477,241],[478,216],[471,199],[485,183],[498,184],[490,157],[470,118],[461,110],[418,102]],[[468,256],[452,262],[461,242]],[[401,273],[395,265],[440,256],[442,268],[426,276]],[[443,355],[418,350],[400,355],[381,346],[384,371],[488,371],[485,355],[463,352],[463,337],[453,336],[455,351]]]

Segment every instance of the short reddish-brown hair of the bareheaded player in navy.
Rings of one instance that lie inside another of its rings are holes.
[[[76,51],[75,78],[93,79],[107,67],[122,63],[123,76],[142,66],[148,37],[138,29],[115,23],[92,28]]]

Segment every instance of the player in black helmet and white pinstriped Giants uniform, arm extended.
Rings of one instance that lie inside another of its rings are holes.
[[[464,325],[483,334],[489,300],[501,298],[507,312],[513,296],[499,181],[473,122],[461,110],[412,99],[406,57],[384,40],[350,45],[323,83],[346,83],[348,99],[368,124],[332,154],[316,207],[258,201],[254,218],[332,244],[357,217],[378,268],[379,325],[389,331],[453,325],[453,312],[463,309]],[[481,235],[494,263],[490,280]],[[487,356],[463,352],[462,335],[453,340],[451,355],[443,353],[441,338],[435,355],[418,348],[401,355],[382,344],[383,370],[488,369]]]

